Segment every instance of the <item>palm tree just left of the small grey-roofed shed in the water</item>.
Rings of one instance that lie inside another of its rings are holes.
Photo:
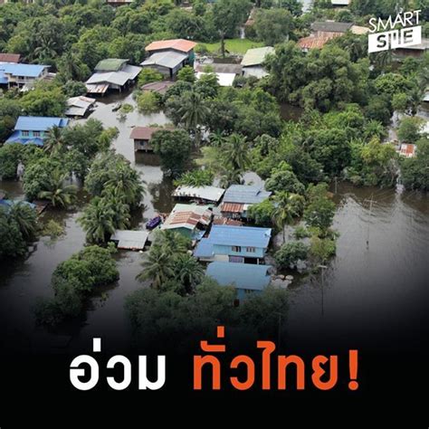
[[[115,232],[115,212],[105,198],[96,196],[78,219],[90,243],[106,243]]]

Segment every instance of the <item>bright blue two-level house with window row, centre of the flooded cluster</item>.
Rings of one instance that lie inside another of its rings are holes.
[[[214,225],[197,244],[194,256],[201,261],[260,263],[272,236],[271,228]]]

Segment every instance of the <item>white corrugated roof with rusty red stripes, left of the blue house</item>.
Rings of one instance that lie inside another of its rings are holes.
[[[161,229],[186,228],[194,230],[197,224],[208,225],[212,211],[208,205],[176,204]]]

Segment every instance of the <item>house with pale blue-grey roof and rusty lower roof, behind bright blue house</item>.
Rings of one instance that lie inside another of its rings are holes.
[[[247,210],[251,205],[262,203],[272,195],[262,186],[232,185],[226,189],[221,213],[224,217],[247,217]]]

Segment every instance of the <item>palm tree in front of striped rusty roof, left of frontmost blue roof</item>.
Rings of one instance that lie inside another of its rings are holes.
[[[141,265],[144,270],[138,274],[137,279],[139,281],[150,280],[152,286],[157,289],[160,289],[174,275],[173,260],[165,246],[152,245],[146,261]]]

